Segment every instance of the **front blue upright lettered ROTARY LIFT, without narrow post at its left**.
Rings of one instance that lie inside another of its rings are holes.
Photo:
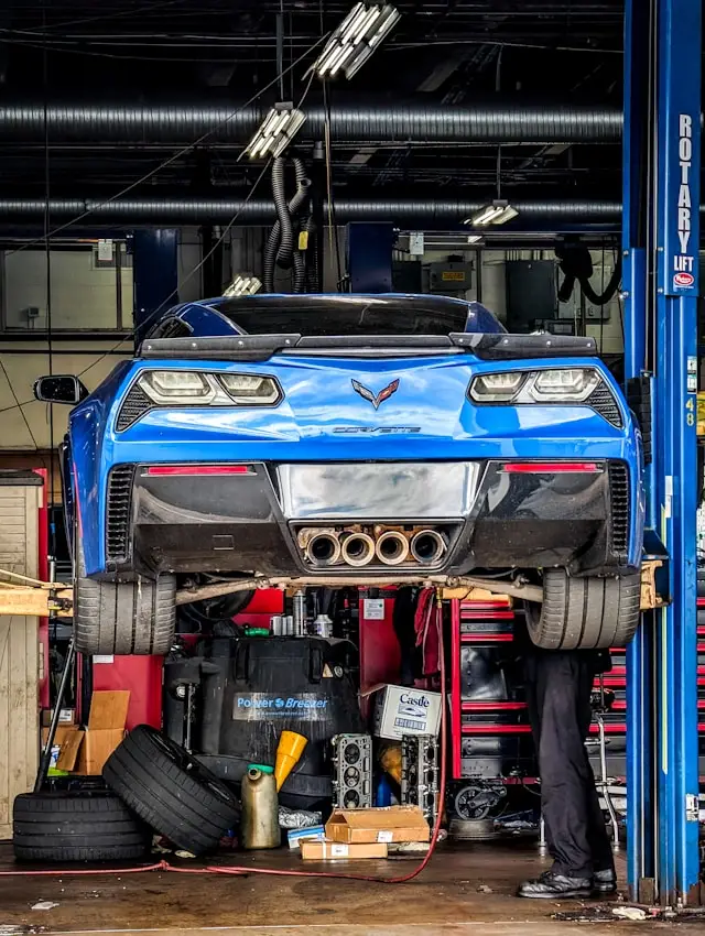
[[[699,903],[696,640],[701,0],[658,22],[657,491],[673,600],[658,629],[659,899]]]

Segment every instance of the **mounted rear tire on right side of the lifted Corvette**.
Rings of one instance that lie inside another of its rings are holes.
[[[546,569],[543,605],[527,605],[529,635],[544,650],[627,646],[639,625],[641,576],[577,578]]]

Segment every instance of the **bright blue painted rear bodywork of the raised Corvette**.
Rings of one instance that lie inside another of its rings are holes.
[[[165,317],[181,319],[194,337],[240,334],[237,325],[217,311],[221,302],[184,304]],[[468,304],[468,330],[503,330],[484,307]],[[618,385],[598,359],[498,362],[446,352],[403,358],[354,355],[350,351],[349,357],[322,357],[302,352],[258,362],[135,358],[118,364],[76,406],[69,420],[69,460],[87,574],[108,570],[106,502],[110,469],[119,465],[194,461],[618,460],[626,462],[630,478],[626,564],[639,565],[643,531],[640,435]],[[615,396],[621,427],[586,405],[476,405],[468,396],[470,380],[481,373],[577,366],[589,366],[599,372]],[[118,414],[130,388],[140,373],[155,369],[274,377],[283,398],[273,407],[152,409],[118,431]],[[355,380],[377,394],[397,379],[397,392],[379,409],[352,388]]]

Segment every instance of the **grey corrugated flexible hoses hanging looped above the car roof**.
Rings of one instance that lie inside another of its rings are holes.
[[[288,203],[285,196],[286,160],[278,156],[272,165],[272,194],[276,208],[276,221],[270,231],[264,247],[264,292],[274,292],[274,264],[282,270],[294,266],[295,293],[304,291],[306,285],[306,265],[302,251],[294,249],[296,216],[308,200],[311,179],[306,177],[303,160],[292,160],[296,176],[296,192]]]

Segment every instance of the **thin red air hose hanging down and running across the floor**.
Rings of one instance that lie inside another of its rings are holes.
[[[221,866],[208,864],[205,868],[178,868],[170,864],[167,861],[159,861],[155,864],[145,864],[141,868],[111,868],[107,871],[97,869],[77,869],[63,871],[0,871],[0,878],[22,878],[22,877],[54,877],[65,878],[69,874],[137,874],[142,871],[173,871],[178,874],[234,874],[242,877],[243,874],[270,874],[276,878],[334,878],[341,881],[368,881],[375,884],[404,884],[406,881],[413,881],[424,870],[431,861],[438,841],[438,832],[441,831],[441,823],[445,807],[445,784],[446,784],[446,693],[445,693],[445,650],[443,642],[443,605],[441,598],[436,600],[436,629],[438,632],[438,659],[441,668],[441,792],[438,795],[438,813],[436,821],[431,832],[431,841],[429,851],[424,855],[423,860],[409,872],[399,878],[377,878],[373,874],[346,874],[343,871],[292,871],[289,869],[275,868],[250,868],[248,866]]]

